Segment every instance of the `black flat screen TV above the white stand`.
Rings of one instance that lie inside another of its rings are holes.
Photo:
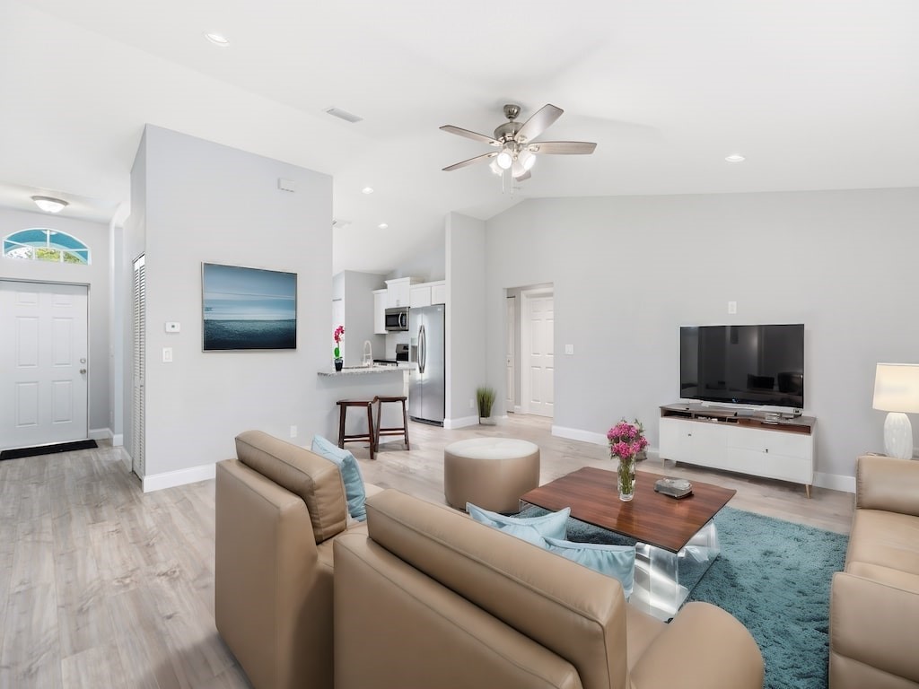
[[[804,408],[804,325],[680,328],[680,398]]]

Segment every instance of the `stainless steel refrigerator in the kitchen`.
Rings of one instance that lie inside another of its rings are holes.
[[[444,305],[409,309],[408,323],[415,364],[409,373],[408,414],[415,421],[443,425],[447,390]]]

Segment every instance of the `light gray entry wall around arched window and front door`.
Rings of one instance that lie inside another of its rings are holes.
[[[109,437],[110,412],[108,366],[111,338],[109,321],[108,225],[74,220],[48,213],[0,208],[0,237],[40,227],[67,232],[90,249],[90,265],[23,261],[0,257],[0,278],[65,282],[89,287],[89,430],[93,437]]]

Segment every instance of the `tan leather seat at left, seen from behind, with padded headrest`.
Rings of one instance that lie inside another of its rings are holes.
[[[367,527],[334,462],[260,431],[236,455],[217,464],[217,630],[255,689],[333,689],[332,543]]]

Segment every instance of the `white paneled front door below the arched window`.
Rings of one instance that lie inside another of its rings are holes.
[[[85,440],[85,286],[0,280],[0,448]]]

